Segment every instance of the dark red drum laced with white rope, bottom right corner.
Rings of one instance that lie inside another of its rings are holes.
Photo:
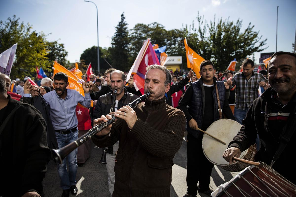
[[[218,186],[212,197],[296,196],[296,186],[263,162],[249,166],[229,182]]]

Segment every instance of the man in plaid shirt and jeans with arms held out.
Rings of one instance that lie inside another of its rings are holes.
[[[243,63],[243,71],[235,74],[231,80],[225,82],[226,89],[236,85],[234,117],[242,124],[252,102],[258,97],[258,87],[266,86],[267,79],[260,73],[254,72],[254,62],[246,59]]]

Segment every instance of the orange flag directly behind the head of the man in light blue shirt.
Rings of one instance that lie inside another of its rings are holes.
[[[57,74],[58,72],[62,72],[65,73],[68,76],[68,89],[75,89],[76,91],[78,91],[81,95],[84,96],[84,91],[82,88],[82,83],[79,81],[78,77],[71,73],[70,71],[68,71],[64,66],[62,66],[61,64],[57,63],[56,61],[54,61],[54,75]]]

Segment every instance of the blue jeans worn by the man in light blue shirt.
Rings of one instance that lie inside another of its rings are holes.
[[[55,132],[57,136],[57,143],[59,148],[70,144],[71,142],[78,139],[78,128],[74,133],[61,134]],[[59,178],[61,179],[61,188],[63,190],[69,189],[71,185],[76,185],[76,173],[77,173],[77,149],[73,150],[70,154],[63,159],[62,164],[57,164],[57,170],[59,173]],[[66,159],[69,164],[69,173],[67,171]]]

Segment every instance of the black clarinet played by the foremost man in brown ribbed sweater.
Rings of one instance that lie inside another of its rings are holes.
[[[146,94],[140,96],[139,98],[137,98],[136,100],[134,100],[133,102],[128,104],[128,106],[130,106],[133,109],[140,102],[144,101],[150,95],[151,95],[151,93],[147,92]],[[85,133],[83,136],[81,136],[77,140],[71,142],[70,144],[68,144],[60,149],[57,149],[57,150],[52,149],[52,156],[53,156],[54,160],[56,162],[58,162],[59,164],[62,164],[63,159],[65,157],[67,157],[67,155],[70,154],[73,150],[75,150],[78,146],[80,146],[81,144],[83,144],[87,140],[91,139],[92,136],[94,136],[96,133],[99,133],[104,128],[107,128],[110,124],[114,123],[116,121],[116,117],[114,114],[112,114],[111,116],[112,116],[112,118],[110,120],[94,126],[93,128],[89,129],[89,131],[87,133]]]

